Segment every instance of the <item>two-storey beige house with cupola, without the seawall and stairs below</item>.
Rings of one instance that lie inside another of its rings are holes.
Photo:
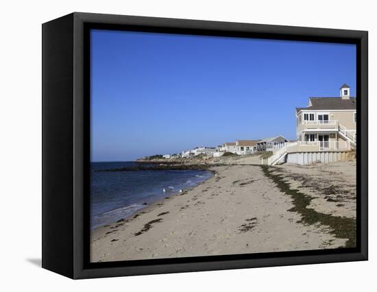
[[[343,84],[340,97],[309,97],[306,108],[296,108],[296,137],[302,151],[356,147],[356,97]]]

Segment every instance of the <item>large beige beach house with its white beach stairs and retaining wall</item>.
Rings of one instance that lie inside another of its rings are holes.
[[[350,96],[350,86],[341,86],[340,97],[309,97],[306,108],[296,108],[295,119],[297,141],[273,149],[263,164],[308,165],[352,157],[356,149],[356,97]]]

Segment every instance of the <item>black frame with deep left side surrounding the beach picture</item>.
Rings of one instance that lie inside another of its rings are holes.
[[[339,42],[356,45],[357,247],[338,250],[88,262],[89,29]],[[42,25],[42,267],[74,279],[367,260],[368,34],[75,12]],[[359,134],[360,133],[360,134]]]

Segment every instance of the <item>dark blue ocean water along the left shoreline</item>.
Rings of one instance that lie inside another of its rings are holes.
[[[92,162],[90,165],[90,229],[130,217],[147,204],[191,188],[212,176],[210,171],[108,171],[137,162]],[[165,188],[165,192],[163,189]]]

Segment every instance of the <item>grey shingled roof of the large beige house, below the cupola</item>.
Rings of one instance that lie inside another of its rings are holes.
[[[296,108],[300,110],[356,110],[356,98],[342,99],[341,97],[310,97],[312,106]]]

